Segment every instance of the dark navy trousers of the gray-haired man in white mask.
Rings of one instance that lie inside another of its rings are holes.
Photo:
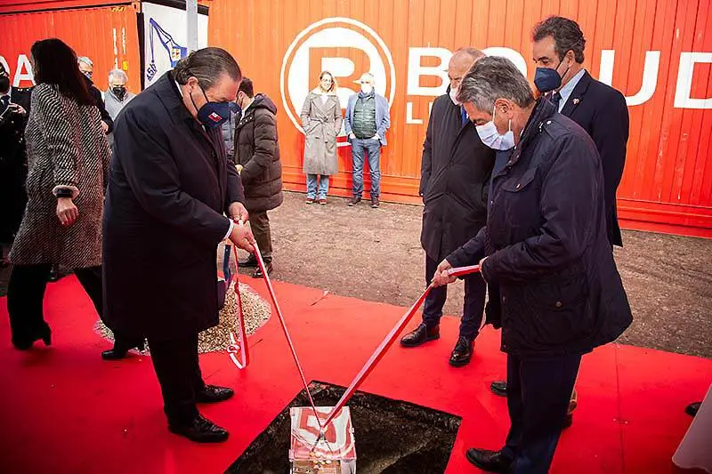
[[[512,426],[502,452],[513,474],[546,474],[554,459],[581,356],[507,356],[506,392]]]

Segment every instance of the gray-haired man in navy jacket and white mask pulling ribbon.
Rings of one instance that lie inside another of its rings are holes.
[[[479,261],[498,287],[511,427],[500,450],[466,455],[481,470],[545,474],[581,357],[632,321],[606,236],[601,159],[585,130],[534,100],[510,60],[475,63],[457,100],[485,145],[513,149],[492,178],[487,225],[433,278],[451,283],[449,268]]]

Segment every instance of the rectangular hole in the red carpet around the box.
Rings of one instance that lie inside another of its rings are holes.
[[[316,406],[335,406],[344,387],[312,382]],[[288,474],[289,408],[309,406],[302,390],[226,474]],[[347,404],[356,439],[358,474],[439,474],[448,465],[462,419],[426,406],[356,392]]]

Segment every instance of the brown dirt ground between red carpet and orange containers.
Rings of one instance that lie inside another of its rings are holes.
[[[272,277],[363,300],[410,306],[425,286],[422,207],[367,202],[305,205],[285,193],[270,213]],[[712,358],[712,240],[625,231],[616,261],[635,318],[619,341]],[[4,295],[9,269],[0,269]],[[450,285],[445,313],[458,316],[463,285]]]

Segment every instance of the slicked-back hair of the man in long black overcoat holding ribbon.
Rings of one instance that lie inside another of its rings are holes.
[[[178,61],[173,70],[175,82],[178,84],[186,84],[190,77],[196,77],[203,89],[213,87],[223,74],[227,74],[235,81],[242,79],[238,61],[230,52],[215,47],[191,52]]]

